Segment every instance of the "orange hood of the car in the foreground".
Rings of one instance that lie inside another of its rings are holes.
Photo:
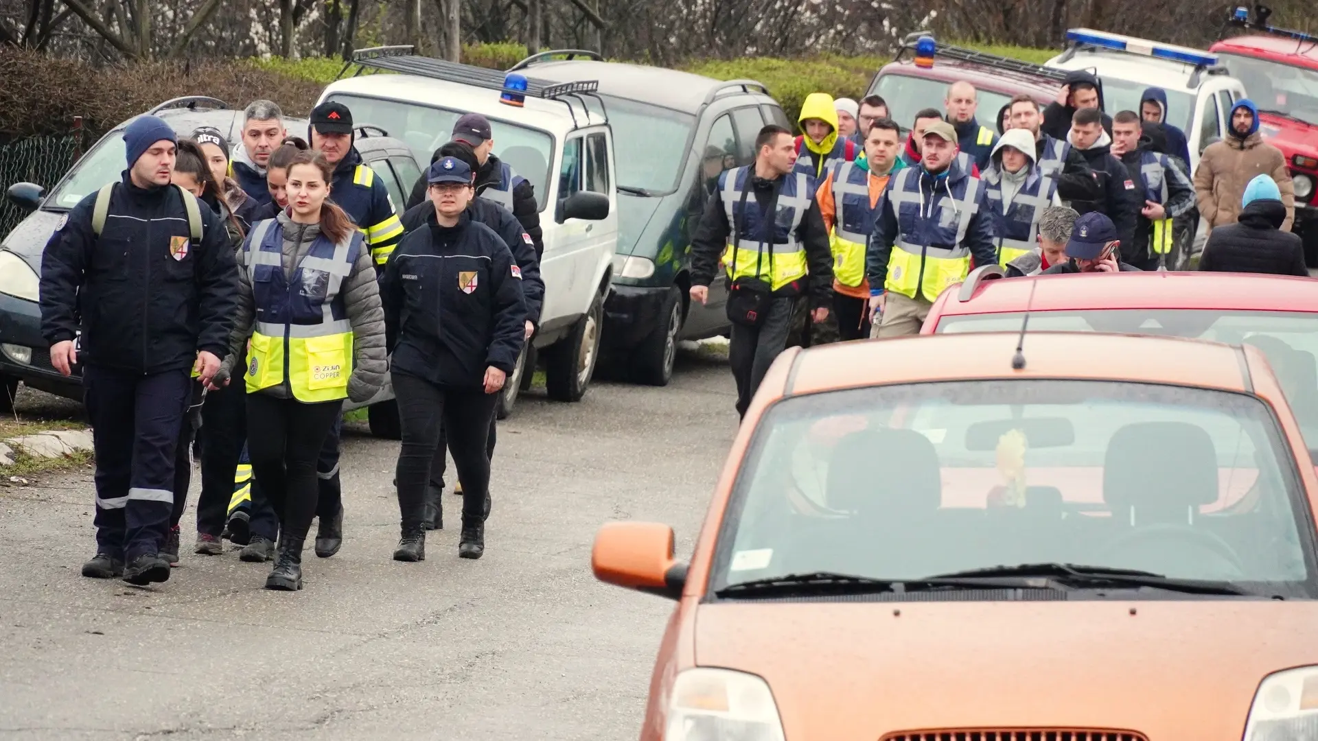
[[[695,641],[699,666],[768,682],[788,738],[1021,726],[1240,738],[1265,675],[1318,665],[1318,603],[720,603],[699,608]]]

